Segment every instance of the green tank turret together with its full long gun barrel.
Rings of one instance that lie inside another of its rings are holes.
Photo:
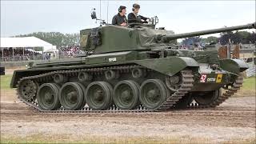
[[[172,43],[171,41],[178,38],[189,38],[251,28],[255,28],[255,22],[242,26],[174,34],[174,31],[171,30],[153,29],[149,24],[138,24],[134,26],[133,23],[133,27],[107,25],[81,30],[80,46],[82,50],[92,50],[96,54],[127,50],[151,50],[154,47],[168,46]]]

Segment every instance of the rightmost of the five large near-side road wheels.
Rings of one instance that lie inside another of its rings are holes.
[[[166,101],[170,94],[164,82],[160,79],[148,79],[140,87],[140,102],[148,110],[154,110]]]

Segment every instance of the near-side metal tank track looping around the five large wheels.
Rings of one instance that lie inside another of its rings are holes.
[[[57,70],[45,74],[39,74],[35,76],[29,76],[21,78],[18,81],[17,87],[20,85],[20,83],[24,80],[34,80],[35,82],[42,82],[45,80],[50,80],[54,74],[67,74],[69,76],[77,76],[78,72],[94,72],[94,74],[104,74],[104,70],[119,70],[120,72],[127,73],[130,72],[133,68],[143,68],[145,67],[133,65],[133,66],[112,66],[112,67],[104,67],[104,68],[91,68],[91,69],[81,69],[81,70]],[[146,69],[147,71],[152,71],[150,69]],[[182,70],[182,85],[180,88],[174,93],[169,94],[170,96],[166,98],[166,101],[162,103],[162,105],[158,106],[158,108],[154,110],[146,110],[143,106],[139,106],[137,110],[120,110],[116,106],[110,106],[107,110],[91,110],[89,107],[83,107],[81,110],[64,110],[63,107],[61,107],[59,110],[42,110],[38,106],[38,102],[35,98],[35,96],[30,99],[26,100],[20,96],[19,90],[17,88],[17,94],[18,99],[20,99],[22,102],[24,102],[27,106],[30,106],[34,110],[37,110],[38,112],[42,113],[144,113],[144,112],[154,112],[154,111],[165,111],[170,110],[172,106],[180,98],[182,98],[186,93],[188,93],[191,88],[193,87],[194,82],[194,75],[192,74],[191,70]],[[37,86],[37,85],[34,85]]]

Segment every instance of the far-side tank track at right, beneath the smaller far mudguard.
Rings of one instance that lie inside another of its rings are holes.
[[[225,102],[228,98],[230,98],[232,95],[237,93],[237,91],[242,87],[243,82],[243,76],[242,74],[239,74],[238,78],[235,79],[235,82],[233,85],[226,90],[224,94],[221,94],[217,99],[215,99],[213,102],[206,106],[200,106],[198,103],[190,104],[190,106],[187,106],[188,109],[194,109],[194,108],[210,108],[210,107],[216,107],[222,104],[222,102]]]

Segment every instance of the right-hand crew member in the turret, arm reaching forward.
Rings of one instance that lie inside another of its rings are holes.
[[[147,20],[150,18],[143,17],[142,15],[138,15],[138,11],[141,6],[139,6],[137,3],[134,3],[133,5],[133,12],[128,14],[128,22],[140,22],[140,23],[147,23]]]

